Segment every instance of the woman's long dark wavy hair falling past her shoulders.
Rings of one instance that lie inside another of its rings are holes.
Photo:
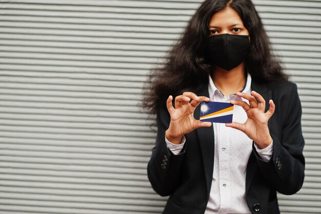
[[[206,60],[206,39],[213,14],[226,7],[234,9],[249,32],[250,51],[246,72],[257,82],[285,81],[280,61],[272,54],[270,41],[251,0],[206,0],[191,17],[184,33],[169,51],[165,64],[151,70],[144,86],[143,107],[155,114],[166,105],[169,95],[195,92],[209,83],[213,67]]]

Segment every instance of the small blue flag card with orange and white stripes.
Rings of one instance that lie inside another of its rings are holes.
[[[234,105],[221,102],[200,103],[199,120],[212,123],[232,123]]]

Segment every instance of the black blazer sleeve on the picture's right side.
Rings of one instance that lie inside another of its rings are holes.
[[[253,152],[258,162],[259,170],[270,183],[270,186],[283,194],[294,194],[303,185],[305,159],[303,147],[305,144],[302,128],[300,104],[297,87],[292,84],[292,92],[287,105],[276,108],[288,109],[285,122],[282,124],[281,137],[271,133],[274,152],[269,162],[260,159],[253,145]],[[283,115],[280,115],[283,116]]]

